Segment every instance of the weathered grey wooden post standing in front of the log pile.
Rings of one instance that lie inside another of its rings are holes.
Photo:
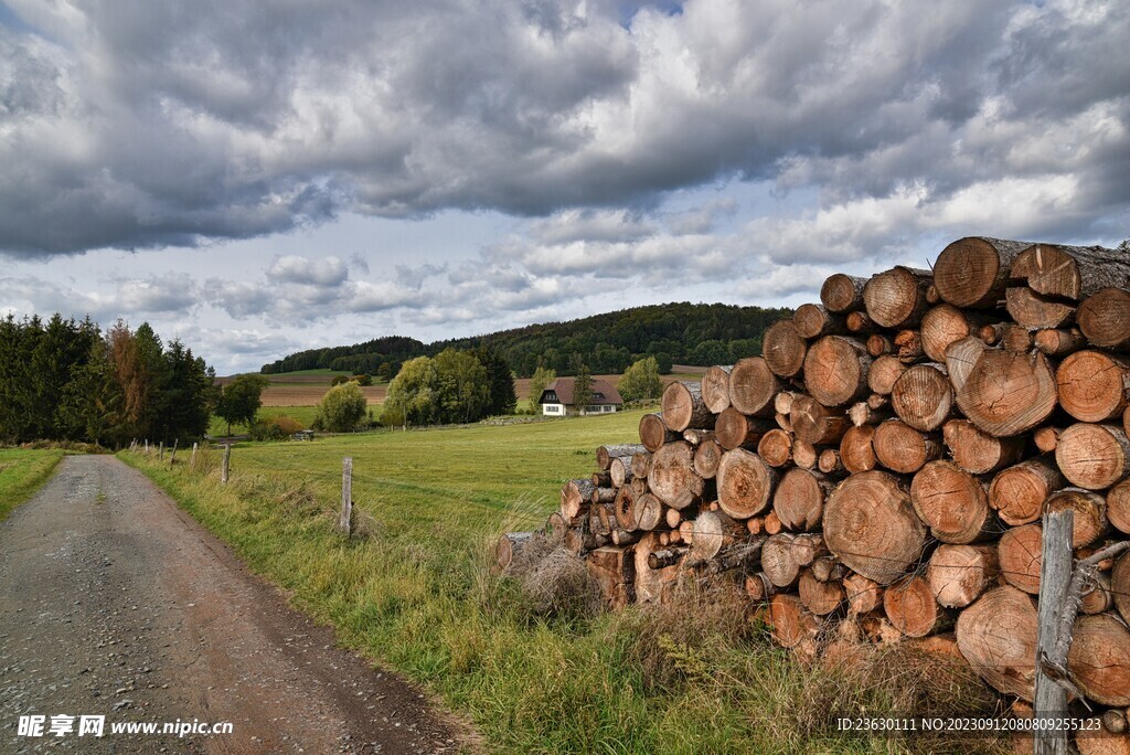
[[[1036,698],[1033,704],[1036,719],[1067,718],[1067,688],[1059,679],[1067,668],[1068,643],[1060,642],[1059,633],[1066,626],[1071,631],[1074,614],[1078,602],[1068,605],[1071,572],[1075,559],[1071,556],[1071,530],[1075,514],[1070,509],[1050,511],[1043,521],[1043,562],[1040,566],[1040,608],[1036,628]],[[1064,613],[1072,614],[1070,622]],[[1057,657],[1058,648],[1063,648],[1063,657]],[[1048,728],[1036,727],[1034,752],[1036,755],[1066,755],[1067,729],[1054,723]]]

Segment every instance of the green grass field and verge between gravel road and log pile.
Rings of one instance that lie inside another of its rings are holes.
[[[841,679],[796,665],[729,606],[547,618],[489,574],[494,539],[531,529],[593,449],[629,442],[641,413],[503,427],[237,444],[195,469],[121,457],[168,489],[340,640],[424,684],[499,753],[960,752],[984,741],[851,739],[833,710],[906,710],[912,666]],[[342,457],[360,537],[333,529]],[[672,611],[679,616],[679,611]],[[936,667],[930,667],[930,674]],[[919,671],[922,676],[924,671]],[[923,702],[925,700],[925,702]],[[914,697],[921,709],[929,697]],[[903,708],[898,708],[903,705]]]

